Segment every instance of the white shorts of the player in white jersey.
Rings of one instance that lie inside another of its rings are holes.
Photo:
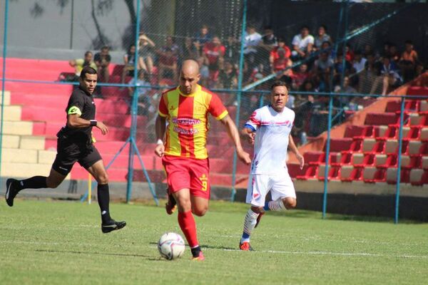
[[[246,202],[253,206],[263,207],[269,191],[272,200],[296,197],[294,185],[288,173],[281,175],[252,174],[248,179]]]

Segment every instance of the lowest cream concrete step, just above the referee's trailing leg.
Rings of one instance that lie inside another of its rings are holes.
[[[1,176],[4,177],[31,177],[36,175],[48,176],[51,164],[1,162]]]

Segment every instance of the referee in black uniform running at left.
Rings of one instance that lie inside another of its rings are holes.
[[[97,72],[90,66],[82,69],[79,77],[80,85],[68,100],[66,108],[67,124],[56,134],[58,144],[56,158],[49,177],[34,176],[26,180],[6,180],[6,203],[12,207],[14,198],[19,191],[32,188],[56,188],[71,171],[74,163],[85,167],[98,182],[98,204],[101,209],[101,230],[108,233],[126,226],[126,222],[116,222],[110,217],[108,204],[108,175],[103,160],[96,147],[93,146],[92,127],[101,130],[103,135],[108,128],[95,120],[95,103],[92,93],[96,88]]]

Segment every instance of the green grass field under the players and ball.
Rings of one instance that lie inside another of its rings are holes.
[[[18,199],[0,205],[0,284],[427,284],[428,224],[268,213],[255,252],[240,252],[245,204],[212,202],[198,218],[206,260],[161,259],[178,232],[162,207],[112,204],[125,229],[102,234],[98,204]]]

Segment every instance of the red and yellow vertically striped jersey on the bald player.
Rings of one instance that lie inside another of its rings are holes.
[[[168,121],[165,155],[207,158],[208,113],[221,120],[228,110],[218,95],[200,85],[189,95],[181,93],[179,87],[163,93],[159,115]]]

